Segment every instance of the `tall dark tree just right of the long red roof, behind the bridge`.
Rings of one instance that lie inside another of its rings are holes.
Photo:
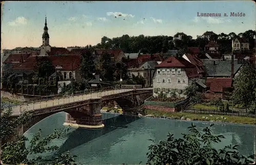
[[[81,54],[81,63],[79,67],[79,74],[83,80],[83,82],[88,82],[91,79],[95,78],[93,73],[95,73],[95,66],[94,66],[94,49],[89,48],[86,49]]]

